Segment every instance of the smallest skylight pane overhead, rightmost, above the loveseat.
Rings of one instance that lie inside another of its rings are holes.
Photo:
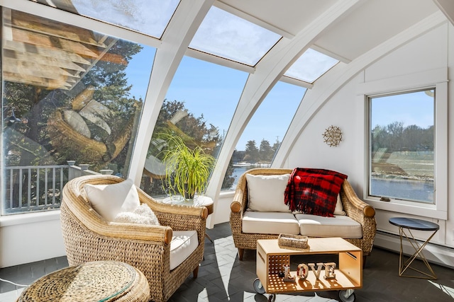
[[[307,83],[314,83],[316,79],[319,79],[320,76],[338,64],[338,62],[337,59],[309,48],[290,66],[284,76]]]

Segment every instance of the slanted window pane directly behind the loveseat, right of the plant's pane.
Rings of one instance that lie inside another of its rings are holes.
[[[231,179],[228,183],[232,185],[224,186],[223,190],[235,190],[246,170],[271,165],[305,92],[306,88],[301,86],[276,83],[236,144],[231,158],[233,172],[224,176],[224,182]]]

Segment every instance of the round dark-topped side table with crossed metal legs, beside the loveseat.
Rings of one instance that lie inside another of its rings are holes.
[[[392,217],[389,219],[389,223],[394,226],[399,227],[399,236],[400,236],[400,255],[399,255],[399,276],[400,277],[413,277],[413,278],[422,278],[422,279],[437,279],[435,272],[433,272],[432,267],[428,264],[426,257],[423,254],[423,249],[427,243],[432,239],[435,233],[438,231],[440,226],[437,223],[431,221],[425,221],[422,219],[406,218],[406,217]],[[432,231],[433,233],[429,236],[424,243],[420,244],[411,233],[411,230],[417,231]],[[404,249],[402,245],[402,240],[406,239],[411,246],[414,248],[414,254],[409,257],[408,260],[404,261]],[[424,262],[430,273],[422,272],[420,269],[411,267],[411,263],[414,262],[416,258],[419,258]],[[404,275],[406,269],[413,269],[416,272],[422,274],[422,276],[414,275]]]

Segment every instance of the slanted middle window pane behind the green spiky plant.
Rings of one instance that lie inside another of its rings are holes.
[[[184,57],[157,117],[141,187],[153,197],[178,194],[167,185],[165,154],[170,137],[180,137],[189,149],[201,147],[215,158],[231,123],[248,74]],[[203,194],[204,192],[198,192]]]

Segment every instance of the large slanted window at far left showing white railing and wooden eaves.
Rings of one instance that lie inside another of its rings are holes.
[[[1,214],[57,209],[80,175],[124,175],[155,50],[8,8],[2,18]]]

